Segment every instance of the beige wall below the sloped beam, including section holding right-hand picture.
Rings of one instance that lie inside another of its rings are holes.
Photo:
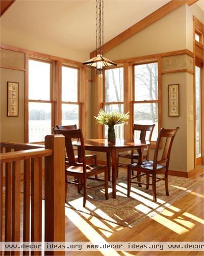
[[[203,14],[197,5],[182,6],[111,49],[105,56],[116,60],[182,49],[193,51],[193,15],[203,22]],[[166,71],[185,68],[193,71],[193,58],[187,55],[163,58],[162,68]],[[179,117],[168,116],[168,84],[173,83],[180,84]],[[93,104],[96,97],[96,89],[93,88]],[[97,114],[94,108],[93,114]],[[193,115],[193,75],[187,72],[163,74],[162,127],[180,127],[172,147],[170,169],[183,172],[194,168],[193,120],[188,120],[189,115]],[[94,131],[92,135],[96,136]],[[151,157],[153,153],[151,150]],[[99,159],[105,160],[106,157],[100,154]]]

